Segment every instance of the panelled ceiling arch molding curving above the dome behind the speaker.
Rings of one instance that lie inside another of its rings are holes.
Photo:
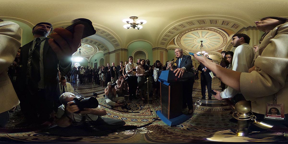
[[[195,16],[184,18],[167,26],[157,40],[159,47],[167,47],[168,43],[183,31],[200,27],[216,27],[233,31],[234,33],[249,23],[234,17],[228,16]]]

